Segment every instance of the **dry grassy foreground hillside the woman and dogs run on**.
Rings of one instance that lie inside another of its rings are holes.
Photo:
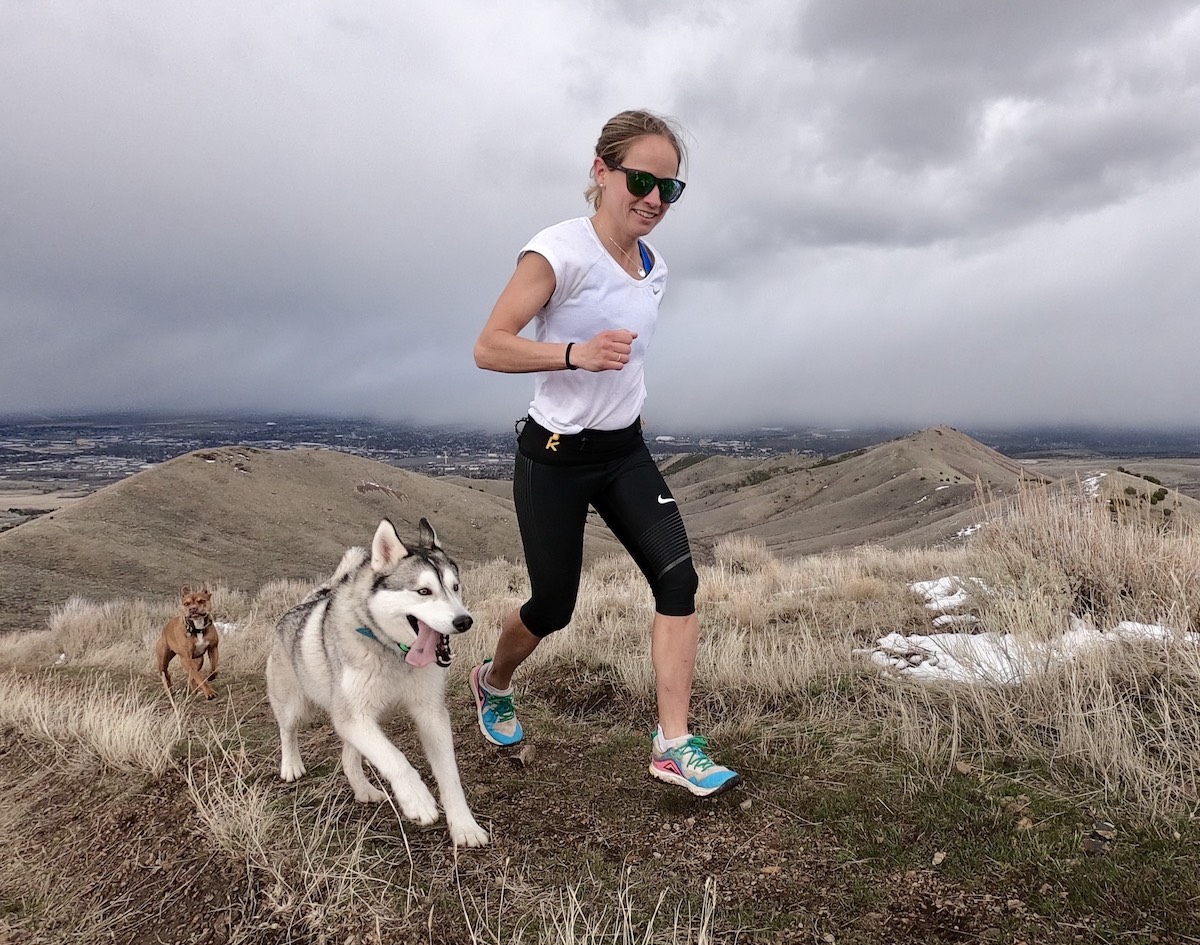
[[[220,589],[214,702],[173,705],[154,675],[172,600],[60,607],[48,630],[0,639],[0,941],[1200,938],[1200,542],[1080,489],[982,512],[953,548],[785,560],[716,543],[695,728],[745,786],[708,801],[646,775],[650,614],[623,558],[589,567],[571,627],[517,680],[527,742],[485,745],[466,674],[524,576],[470,565],[478,622],[449,691],[492,835],[472,851],[442,824],[355,805],[322,721],[302,735],[310,774],[278,781],[262,669],[306,583]],[[977,630],[1034,649],[1073,615],[1172,633],[1048,658],[1009,686],[871,663],[880,638],[934,632],[910,585],[946,574],[979,578],[964,604]],[[427,771],[406,721],[389,730]]]

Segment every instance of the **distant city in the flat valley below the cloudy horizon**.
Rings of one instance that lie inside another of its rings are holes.
[[[932,425],[930,425],[932,426]],[[1043,428],[962,433],[1014,459],[1043,457],[1200,457],[1200,431],[1100,431]],[[709,453],[836,456],[883,443],[912,429],[863,427],[762,427],[682,433],[647,427],[656,456]],[[362,419],[96,415],[0,419],[0,483],[43,488],[100,488],[193,450],[325,447],[433,476],[508,478],[515,435],[505,431],[410,427]]]

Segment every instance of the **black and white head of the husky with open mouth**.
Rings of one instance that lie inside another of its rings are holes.
[[[371,546],[371,570],[376,573],[371,614],[389,634],[397,625],[418,633],[419,624],[426,624],[446,637],[470,630],[473,620],[462,602],[458,567],[424,518],[421,542],[415,548],[401,542],[390,522],[380,522]],[[403,639],[403,634],[395,638]]]

